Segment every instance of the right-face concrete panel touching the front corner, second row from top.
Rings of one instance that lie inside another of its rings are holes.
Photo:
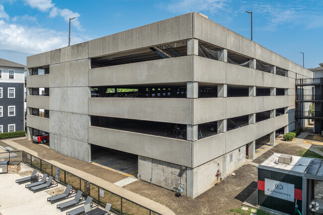
[[[193,81],[226,83],[227,63],[193,56]]]

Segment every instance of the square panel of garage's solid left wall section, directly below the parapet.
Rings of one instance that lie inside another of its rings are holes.
[[[89,68],[88,59],[50,65],[50,86],[88,86]]]

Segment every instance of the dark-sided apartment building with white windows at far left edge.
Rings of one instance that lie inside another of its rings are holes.
[[[24,131],[24,68],[0,58],[0,133]]]

